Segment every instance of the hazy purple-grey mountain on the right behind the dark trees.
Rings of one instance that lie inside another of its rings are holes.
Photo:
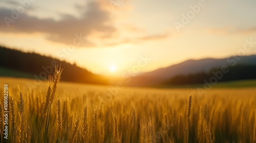
[[[197,74],[200,72],[208,73],[211,69],[220,68],[223,65],[256,65],[256,55],[228,57],[225,59],[207,58],[201,60],[187,60],[179,64],[143,73],[132,78],[128,85],[146,86],[160,84],[178,75]]]

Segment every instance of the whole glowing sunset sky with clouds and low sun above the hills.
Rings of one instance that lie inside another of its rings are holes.
[[[134,67],[146,72],[188,59],[256,54],[255,6],[254,0],[2,0],[0,44],[121,76]],[[246,41],[254,47],[243,51]]]

